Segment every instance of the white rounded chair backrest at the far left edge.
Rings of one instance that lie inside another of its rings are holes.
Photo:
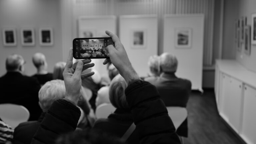
[[[27,108],[16,104],[0,104],[0,118],[13,129],[22,122],[28,121]]]

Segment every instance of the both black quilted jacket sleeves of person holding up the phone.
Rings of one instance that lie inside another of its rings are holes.
[[[125,90],[127,103],[141,144],[180,144],[164,102],[152,84],[135,80]],[[81,112],[72,103],[55,101],[41,122],[31,144],[52,144],[61,133],[72,132]]]

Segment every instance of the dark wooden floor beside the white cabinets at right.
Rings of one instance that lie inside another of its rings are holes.
[[[188,138],[184,144],[241,144],[218,115],[213,90],[192,92],[187,105]]]

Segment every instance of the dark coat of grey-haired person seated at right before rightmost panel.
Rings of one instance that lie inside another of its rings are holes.
[[[166,106],[186,107],[191,93],[191,82],[177,78],[175,74],[163,73],[160,77],[148,77],[145,81],[155,85]],[[188,137],[187,119],[179,126],[177,133]]]

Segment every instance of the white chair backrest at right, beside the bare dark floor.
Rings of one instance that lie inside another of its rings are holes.
[[[168,115],[172,119],[175,129],[182,124],[182,122],[188,117],[187,109],[184,107],[166,107]]]

